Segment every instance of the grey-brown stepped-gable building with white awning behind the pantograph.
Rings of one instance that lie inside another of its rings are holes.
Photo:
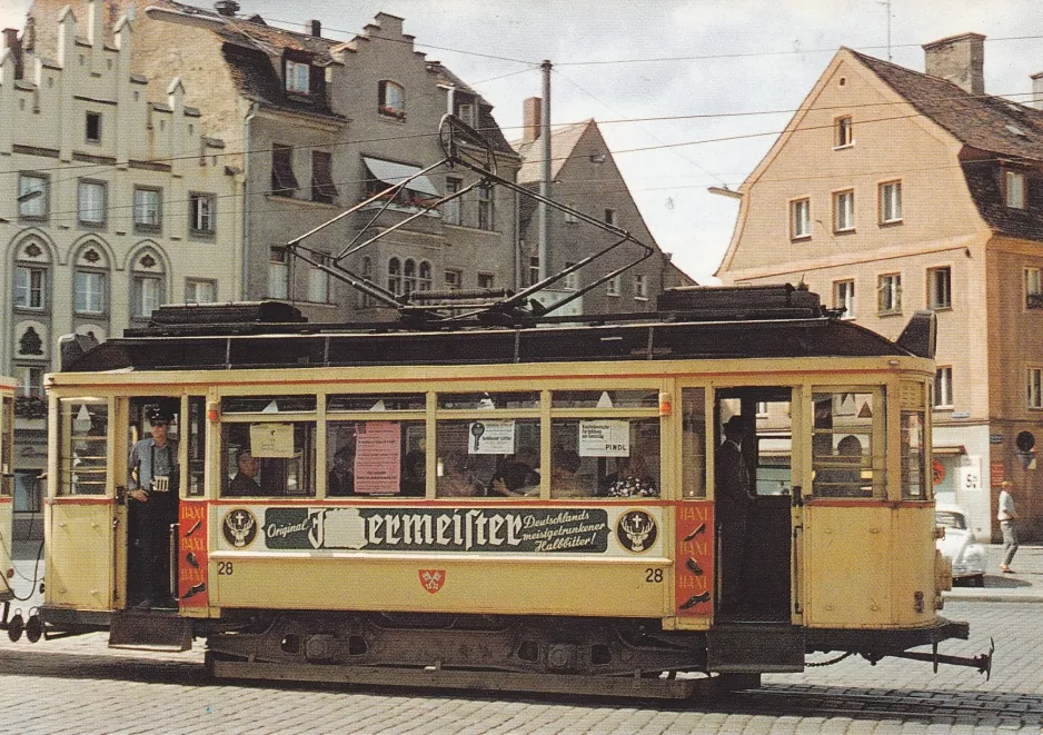
[[[59,12],[64,0],[34,0],[30,20]],[[246,3],[244,3],[246,4]],[[132,0],[74,0],[126,10]],[[476,123],[498,152],[499,172],[514,178],[519,160],[488,105],[445,66],[414,49],[403,19],[378,13],[349,41],[274,28],[259,16],[169,0],[138,9],[131,69],[151,76],[176,70],[208,129],[227,140],[226,162],[245,172],[245,289],[239,297],[292,299],[311,319],[381,319],[386,308],[322,270],[291,259],[282,247],[337,213],[443,158],[441,116],[454,109]],[[167,12],[161,12],[167,11]],[[37,33],[36,43],[49,39]],[[240,152],[235,156],[231,153]],[[445,169],[416,179],[374,220],[372,205],[304,242],[316,259],[331,258],[414,215],[425,203],[475,179]],[[509,192],[475,189],[359,249],[342,262],[398,294],[514,287],[515,203]]]

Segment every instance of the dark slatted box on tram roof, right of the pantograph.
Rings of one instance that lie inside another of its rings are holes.
[[[659,296],[659,311],[683,311],[705,319],[816,318],[828,314],[818,294],[779,286],[683,286]]]

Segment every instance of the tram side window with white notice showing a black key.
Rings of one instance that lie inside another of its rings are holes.
[[[438,497],[539,494],[539,419],[439,420]]]

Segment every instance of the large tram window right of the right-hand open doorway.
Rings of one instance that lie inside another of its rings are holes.
[[[884,497],[885,406],[880,390],[814,393],[813,493]]]

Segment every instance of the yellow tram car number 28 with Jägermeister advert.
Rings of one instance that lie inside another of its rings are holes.
[[[930,319],[892,342],[788,286],[659,307],[427,330],[163,307],[66,344],[47,635],[205,638],[237,677],[664,696],[966,638],[938,615]],[[169,607],[136,604],[128,517],[157,407],[179,466]],[[715,466],[729,419],[748,427],[738,532]]]

